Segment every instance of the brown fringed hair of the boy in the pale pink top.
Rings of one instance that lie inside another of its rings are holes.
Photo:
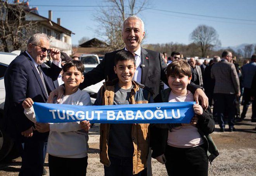
[[[167,77],[170,75],[185,75],[190,78],[192,73],[188,62],[183,59],[171,62],[171,64],[167,66]]]

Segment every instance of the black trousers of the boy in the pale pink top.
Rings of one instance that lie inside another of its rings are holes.
[[[203,146],[176,148],[167,145],[164,155],[168,176],[208,176],[208,158]]]

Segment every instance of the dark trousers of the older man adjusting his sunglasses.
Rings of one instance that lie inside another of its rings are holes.
[[[38,140],[35,136],[19,140],[19,153],[22,158],[19,176],[42,176],[44,142],[45,140]]]

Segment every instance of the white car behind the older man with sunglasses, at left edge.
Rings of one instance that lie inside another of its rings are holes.
[[[12,149],[14,143],[3,131],[3,105],[5,102],[4,74],[10,62],[17,57],[20,51],[15,53],[0,52],[0,160],[4,159]]]

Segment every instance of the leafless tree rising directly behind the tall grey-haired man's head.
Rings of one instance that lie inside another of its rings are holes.
[[[108,50],[118,50],[125,45],[122,40],[123,21],[149,7],[150,0],[107,0],[109,8],[102,8],[95,16],[99,23],[96,32],[106,37]]]

